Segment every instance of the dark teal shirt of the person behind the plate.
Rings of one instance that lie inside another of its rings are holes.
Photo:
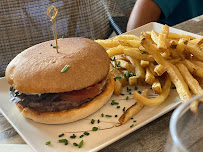
[[[160,23],[173,26],[203,14],[203,0],[153,0],[161,8]]]

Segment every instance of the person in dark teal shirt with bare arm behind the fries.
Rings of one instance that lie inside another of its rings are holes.
[[[203,14],[203,0],[137,0],[127,31],[149,22],[173,26]]]

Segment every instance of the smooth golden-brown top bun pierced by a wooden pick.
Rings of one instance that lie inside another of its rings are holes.
[[[7,66],[6,79],[27,93],[58,93],[80,90],[105,78],[110,60],[105,49],[87,38],[58,39],[34,45],[18,54]],[[70,65],[66,72],[61,70]]]

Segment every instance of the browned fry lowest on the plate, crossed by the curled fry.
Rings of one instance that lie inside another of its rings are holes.
[[[147,97],[148,90],[147,89],[143,90],[142,95],[144,97]],[[119,118],[119,122],[121,123],[121,125],[125,124],[128,120],[130,120],[130,118],[136,115],[143,107],[144,105],[140,101],[137,101],[135,104],[129,107]]]

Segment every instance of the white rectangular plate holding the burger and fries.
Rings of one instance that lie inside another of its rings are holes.
[[[161,24],[158,23],[149,23],[142,27],[139,27],[135,30],[128,32],[127,34],[135,34],[140,36],[143,31],[151,31],[155,30],[160,32],[162,28]],[[192,34],[189,32],[185,32],[182,30],[177,30],[174,28],[170,28],[170,32],[179,33],[179,34],[188,34],[194,37],[201,37],[196,34]],[[126,34],[126,33],[125,33]],[[134,93],[134,87],[129,87],[132,89],[131,93]],[[138,86],[138,90],[142,91],[146,86]],[[148,86],[147,88],[150,88]],[[137,91],[138,91],[137,90]],[[112,96],[108,103],[98,110],[96,113],[91,116],[79,120],[77,122],[64,124],[64,125],[45,125],[36,123],[32,120],[24,118],[14,103],[10,103],[9,99],[9,85],[5,78],[0,79],[0,110],[2,114],[7,118],[7,120],[11,123],[11,125],[16,129],[16,131],[20,134],[20,136],[25,140],[27,144],[29,144],[33,150],[37,152],[56,152],[56,151],[98,151],[111,143],[119,140],[120,138],[130,134],[131,132],[139,129],[140,127],[146,125],[147,123],[155,120],[156,118],[162,116],[163,114],[169,112],[174,109],[180,103],[180,98],[176,92],[176,90],[171,90],[169,97],[167,100],[158,107],[144,107],[137,115],[133,117],[132,120],[129,120],[126,124],[113,127],[111,129],[98,130],[98,131],[89,131],[92,127],[109,128],[112,127],[115,123],[118,123],[118,118],[123,113],[123,108],[126,109],[131,106],[135,101],[132,99],[132,94],[126,91],[126,88],[123,88],[122,93],[125,96]],[[149,89],[149,95],[152,95],[152,91]],[[129,96],[129,100],[126,100],[126,96]],[[117,105],[111,105],[111,101],[115,100],[119,102],[120,109],[116,108]],[[112,117],[101,117],[101,114],[112,115]],[[118,117],[115,117],[118,115]],[[95,119],[95,123],[91,124],[91,119]],[[97,120],[100,120],[100,123],[97,123]],[[136,120],[136,122],[133,122]],[[107,123],[111,122],[111,123]],[[130,127],[134,124],[134,127]],[[88,131],[90,133],[89,136],[84,136],[83,138],[79,138],[82,132],[79,131]],[[65,132],[78,132],[74,133],[77,137],[75,139],[71,139],[70,136],[73,133],[65,133]],[[65,136],[62,138],[66,138],[69,141],[69,144],[65,146],[62,143],[58,143],[60,139],[58,137],[59,134],[65,133]],[[81,140],[84,140],[82,148],[78,148],[73,146],[73,143],[79,143]],[[51,145],[46,146],[45,142],[51,141]]]

